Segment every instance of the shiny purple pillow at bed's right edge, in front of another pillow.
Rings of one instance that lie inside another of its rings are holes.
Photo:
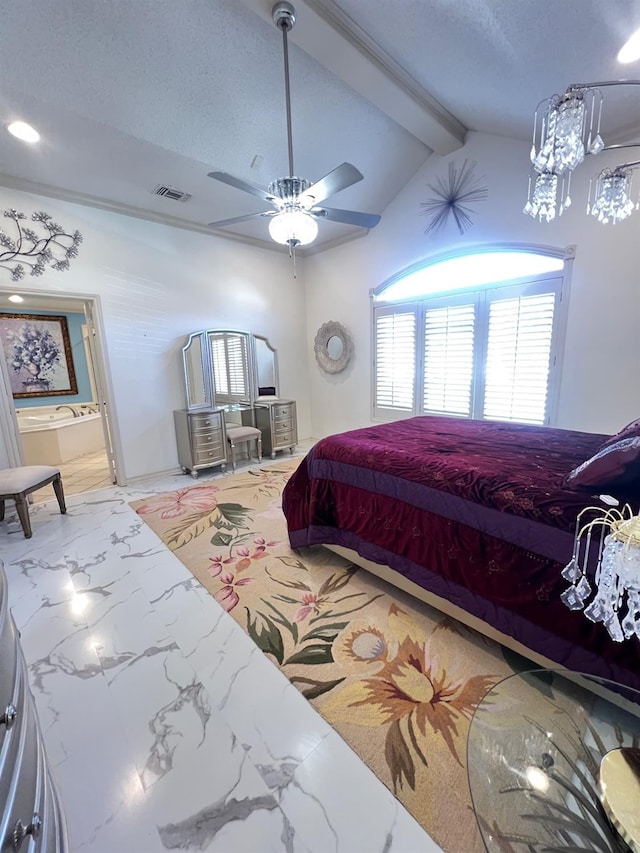
[[[621,433],[631,426],[629,424]],[[569,489],[619,488],[625,493],[640,493],[640,429],[635,435],[627,434],[624,438],[612,436],[590,459],[567,474],[564,486]]]

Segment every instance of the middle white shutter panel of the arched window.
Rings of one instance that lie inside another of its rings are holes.
[[[475,303],[429,308],[424,324],[424,413],[471,417]]]

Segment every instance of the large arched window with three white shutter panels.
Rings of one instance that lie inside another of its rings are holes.
[[[564,252],[487,248],[373,291],[374,417],[552,423],[566,265]]]

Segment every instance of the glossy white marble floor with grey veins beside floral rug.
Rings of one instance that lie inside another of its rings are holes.
[[[128,505],[191,482],[0,524],[72,853],[440,850]]]

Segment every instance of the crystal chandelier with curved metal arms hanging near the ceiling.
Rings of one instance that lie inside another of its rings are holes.
[[[602,88],[640,85],[640,80],[572,84],[563,95],[541,101],[535,112],[530,159],[532,173],[524,213],[551,222],[571,206],[571,173],[587,154],[631,146],[605,146],[600,135]],[[620,222],[638,208],[630,199],[631,170],[638,163],[605,169],[589,186],[587,213],[598,222]]]

